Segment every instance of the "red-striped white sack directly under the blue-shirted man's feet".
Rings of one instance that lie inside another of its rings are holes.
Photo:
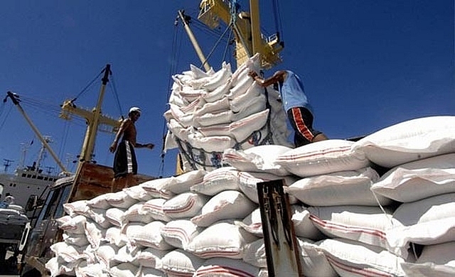
[[[368,167],[370,161],[365,154],[352,151],[351,146],[353,141],[341,139],[318,141],[287,151],[274,163],[301,177]]]

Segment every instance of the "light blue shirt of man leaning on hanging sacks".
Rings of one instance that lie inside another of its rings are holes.
[[[306,97],[304,83],[294,72],[289,70],[286,70],[286,72],[286,79],[283,82],[279,82],[279,94],[282,97],[284,110],[287,112],[291,108],[304,107],[312,114],[313,109],[311,109],[308,97]]]

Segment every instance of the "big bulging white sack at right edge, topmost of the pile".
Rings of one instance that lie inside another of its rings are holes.
[[[353,145],[386,168],[455,152],[455,116],[429,116],[376,131]]]

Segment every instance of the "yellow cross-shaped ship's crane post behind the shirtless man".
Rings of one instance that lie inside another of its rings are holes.
[[[115,132],[119,128],[120,124],[122,124],[122,120],[112,119],[109,116],[103,115],[101,112],[102,100],[105,95],[106,85],[107,82],[109,82],[109,75],[112,73],[111,65],[107,64],[103,71],[105,75],[102,77],[102,85],[97,101],[97,106],[93,108],[92,111],[76,107],[73,103],[73,100],[66,100],[62,104],[62,112],[60,113],[61,118],[70,119],[69,114],[75,114],[77,116],[83,117],[87,121],[87,131],[85,132],[85,139],[84,143],[82,144],[82,150],[80,152],[78,168],[82,162],[92,161],[92,154],[93,149],[95,148],[95,139],[97,136],[98,126],[100,126],[100,124],[112,126],[112,132]]]

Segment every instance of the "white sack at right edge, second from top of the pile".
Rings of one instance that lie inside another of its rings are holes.
[[[398,165],[382,175],[371,190],[399,202],[455,192],[455,153]]]

